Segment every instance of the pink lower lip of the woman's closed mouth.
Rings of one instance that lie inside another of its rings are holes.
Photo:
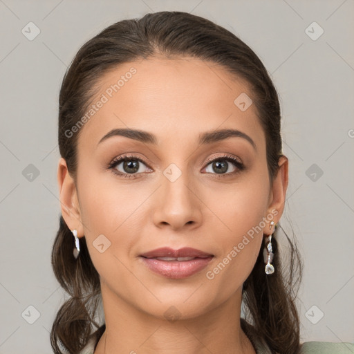
[[[190,261],[162,261],[160,259],[140,258],[155,273],[171,279],[183,279],[200,272],[213,257],[195,258]]]

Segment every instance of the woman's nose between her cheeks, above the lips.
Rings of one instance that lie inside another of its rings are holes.
[[[155,200],[153,223],[156,227],[181,230],[185,225],[189,230],[201,225],[203,203],[198,198],[198,190],[187,178],[187,172],[176,180],[162,175],[162,185]]]

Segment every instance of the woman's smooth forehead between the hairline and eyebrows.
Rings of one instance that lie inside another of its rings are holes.
[[[87,114],[80,131],[79,145],[84,150],[93,151],[102,136],[119,128],[149,131],[158,142],[163,138],[176,145],[215,129],[239,129],[257,145],[264,138],[254,104],[241,111],[234,103],[240,95],[253,99],[250,85],[211,62],[137,60],[105,73],[97,87],[91,115]]]

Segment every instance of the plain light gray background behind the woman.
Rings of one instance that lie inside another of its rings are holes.
[[[51,353],[50,327],[65,298],[50,252],[60,212],[57,99],[66,67],[106,26],[160,10],[224,26],[272,74],[290,160],[281,224],[290,236],[294,230],[305,263],[301,337],[353,342],[353,0],[0,0],[0,353]],[[30,21],[40,30],[32,41],[21,32]],[[318,27],[306,32],[313,21],[324,30],[316,40],[309,35],[319,35]]]

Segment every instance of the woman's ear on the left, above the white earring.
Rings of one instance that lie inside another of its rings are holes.
[[[77,236],[84,236],[84,227],[82,225],[80,205],[77,198],[75,182],[68,173],[66,160],[59,159],[57,170],[57,181],[59,185],[59,201],[62,209],[62,216],[70,230],[77,230]]]

